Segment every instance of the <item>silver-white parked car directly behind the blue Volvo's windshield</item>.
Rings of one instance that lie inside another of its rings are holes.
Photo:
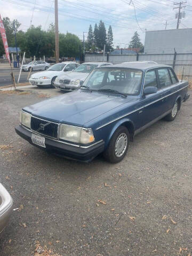
[[[94,68],[113,65],[109,62],[84,62],[81,66],[76,68],[73,72],[58,76],[53,85],[55,88],[62,91],[74,91],[81,87],[85,78],[89,76]]]

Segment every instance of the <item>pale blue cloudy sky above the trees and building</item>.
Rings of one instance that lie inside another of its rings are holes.
[[[177,20],[172,0],[58,0],[59,30],[74,33],[83,39],[83,31],[91,24],[105,22],[108,30],[111,25],[114,34],[114,46],[127,47],[134,31],[138,31],[142,43],[145,30],[175,29]],[[21,29],[29,28],[30,23],[47,29],[54,22],[53,0],[0,0],[2,17],[18,19]],[[180,28],[190,27],[192,18],[192,0],[187,1],[186,18]],[[136,20],[137,19],[137,20]]]

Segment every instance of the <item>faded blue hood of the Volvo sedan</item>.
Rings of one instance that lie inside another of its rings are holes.
[[[134,101],[134,97],[78,90],[23,108],[28,113],[58,123],[83,126],[92,119]]]

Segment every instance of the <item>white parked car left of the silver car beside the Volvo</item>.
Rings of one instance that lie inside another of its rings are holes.
[[[63,71],[73,71],[78,66],[80,66],[80,64],[71,61],[54,64],[53,66],[51,66],[43,72],[37,72],[31,75],[29,78],[29,83],[31,85],[37,85],[38,87],[47,85],[54,87],[53,82],[57,76],[63,74]]]

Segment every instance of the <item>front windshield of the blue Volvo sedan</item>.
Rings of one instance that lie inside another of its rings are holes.
[[[138,94],[142,71],[131,68],[97,68],[86,78],[82,89]],[[86,87],[85,87],[86,86]]]

